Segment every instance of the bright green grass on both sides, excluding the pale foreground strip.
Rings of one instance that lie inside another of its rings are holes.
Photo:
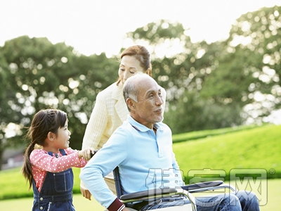
[[[227,176],[235,168],[257,168],[268,172],[268,178],[281,178],[281,125],[266,125],[263,127],[245,127],[235,132],[231,129],[205,132],[192,132],[198,137],[205,133],[205,138],[174,143],[176,159],[185,178],[192,177],[190,170],[223,170]],[[216,135],[215,135],[216,134]],[[188,134],[183,134],[182,137]],[[183,138],[181,138],[183,139]],[[275,173],[270,174],[269,170]],[[74,170],[74,193],[80,193],[79,173]],[[226,178],[227,179],[227,178]],[[187,180],[185,180],[188,183]],[[20,173],[20,168],[0,172],[0,200],[9,198],[32,197],[32,191],[27,191],[28,184]],[[280,186],[279,186],[280,187]],[[78,196],[78,195],[77,195]],[[280,195],[279,195],[280,196]],[[1,207],[1,205],[0,205]]]

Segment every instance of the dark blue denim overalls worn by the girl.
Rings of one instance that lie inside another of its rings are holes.
[[[64,150],[60,153],[65,154]],[[48,152],[53,156],[53,153]],[[64,172],[47,172],[41,191],[37,190],[34,180],[32,180],[34,202],[32,211],[55,210],[74,211],[72,205],[73,172],[72,168]]]

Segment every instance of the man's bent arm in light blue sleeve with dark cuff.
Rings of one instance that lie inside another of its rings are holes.
[[[80,173],[81,181],[93,197],[108,210],[123,207],[117,196],[110,191],[103,177],[112,172],[126,158],[126,143],[126,134],[115,132]]]

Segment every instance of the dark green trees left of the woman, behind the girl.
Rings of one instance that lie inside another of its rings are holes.
[[[116,59],[107,58],[105,53],[80,55],[64,43],[27,36],[6,41],[0,52],[0,97],[4,99],[0,136],[6,137],[5,129],[11,122],[23,135],[34,113],[42,108],[59,108],[70,120],[70,146],[81,148],[96,95],[117,79]],[[6,142],[19,142],[18,138]],[[1,143],[1,151],[6,147]]]

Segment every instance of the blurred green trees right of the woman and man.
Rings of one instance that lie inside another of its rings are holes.
[[[280,13],[275,6],[244,14],[226,41],[212,44],[191,43],[188,30],[166,20],[127,34],[153,49],[153,77],[167,91],[164,121],[173,131],[261,122],[280,108]],[[163,45],[166,51],[157,56]],[[174,46],[178,51],[170,53]],[[183,116],[192,125],[179,124]]]

